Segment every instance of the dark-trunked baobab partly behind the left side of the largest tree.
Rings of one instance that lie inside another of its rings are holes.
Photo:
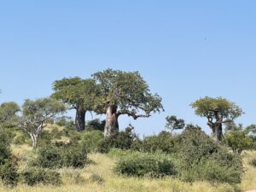
[[[53,97],[76,110],[75,125],[78,131],[85,129],[85,113],[93,111],[99,90],[93,79],[64,78],[53,83]]]

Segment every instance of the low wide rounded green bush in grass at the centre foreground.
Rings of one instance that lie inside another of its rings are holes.
[[[172,160],[166,155],[139,152],[121,158],[114,171],[119,175],[135,177],[164,177],[176,174]]]

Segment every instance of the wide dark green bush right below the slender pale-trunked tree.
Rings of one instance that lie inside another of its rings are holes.
[[[62,166],[84,167],[87,154],[80,145],[49,145],[38,151],[38,157],[32,163],[43,168],[60,168]]]

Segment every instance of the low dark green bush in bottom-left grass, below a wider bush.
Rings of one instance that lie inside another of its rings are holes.
[[[21,173],[21,177],[27,185],[33,186],[38,183],[60,185],[61,175],[59,172],[53,172],[44,169],[30,169]]]

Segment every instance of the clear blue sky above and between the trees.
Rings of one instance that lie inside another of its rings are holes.
[[[167,115],[201,125],[189,103],[224,96],[256,123],[256,1],[2,1],[0,102],[49,96],[55,79],[139,71],[165,113],[130,122],[141,136]],[[87,115],[90,118],[90,114]],[[104,117],[102,116],[102,119]]]

